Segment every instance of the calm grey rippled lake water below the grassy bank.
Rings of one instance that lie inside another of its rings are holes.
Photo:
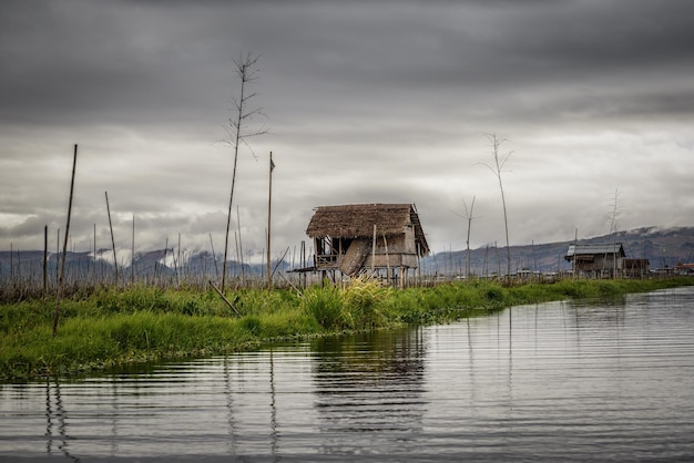
[[[693,461],[694,288],[0,385],[0,461]]]

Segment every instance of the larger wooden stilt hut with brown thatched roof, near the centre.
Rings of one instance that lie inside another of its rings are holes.
[[[355,276],[367,270],[405,284],[409,269],[429,254],[410,204],[350,204],[315,209],[306,234],[314,239],[312,270]],[[374,243],[376,244],[374,246]]]

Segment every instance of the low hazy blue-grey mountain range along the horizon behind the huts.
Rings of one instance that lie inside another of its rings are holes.
[[[531,270],[541,272],[562,271],[571,268],[564,255],[573,240],[511,246],[511,271]],[[598,236],[579,239],[579,244],[621,243],[627,258],[645,258],[650,260],[652,269],[672,268],[676,264],[694,263],[694,227],[659,228],[644,227],[629,232],[619,232],[609,236]],[[96,276],[100,280],[108,280],[114,274],[114,267],[109,261],[111,249],[96,251],[100,257],[93,259],[91,251],[72,251],[67,255],[67,275],[73,278]],[[468,251],[465,249],[443,251],[427,256],[421,261],[425,275],[466,275]],[[58,270],[58,255],[49,254],[48,275],[54,276]],[[127,256],[130,260],[130,255]],[[111,259],[112,260],[112,259]],[[164,264],[165,263],[165,264]],[[273,263],[276,271],[290,270],[302,267],[300,263],[293,263],[287,257],[279,263]],[[37,279],[42,276],[42,250],[3,250],[0,251],[0,281],[9,278]],[[259,277],[267,269],[266,264],[244,264],[228,261],[228,275],[235,278]],[[474,275],[503,275],[507,269],[507,251],[503,244],[489,245],[470,250],[470,271]],[[136,253],[134,267],[119,266],[123,280],[131,277],[137,279],[185,277],[200,279],[214,278],[222,271],[222,256],[213,256],[208,251],[185,251],[183,255],[173,249],[154,249]]]

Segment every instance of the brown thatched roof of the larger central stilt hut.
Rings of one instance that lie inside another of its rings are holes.
[[[315,208],[306,234],[312,238],[366,238],[378,235],[399,235],[405,227],[415,227],[415,239],[423,254],[429,253],[417,210],[411,204],[348,204]]]

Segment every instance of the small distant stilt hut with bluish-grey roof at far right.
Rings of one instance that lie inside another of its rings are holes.
[[[569,245],[564,259],[573,263],[576,275],[614,277],[622,271],[624,247],[621,243]]]

